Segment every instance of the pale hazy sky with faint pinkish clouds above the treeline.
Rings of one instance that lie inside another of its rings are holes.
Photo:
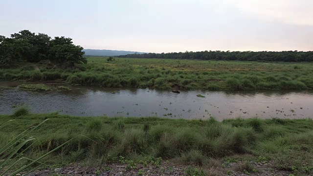
[[[313,0],[0,0],[0,35],[28,29],[84,48],[313,50]]]

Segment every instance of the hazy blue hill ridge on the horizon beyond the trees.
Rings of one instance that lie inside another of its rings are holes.
[[[118,50],[109,50],[109,49],[83,49],[85,55],[87,56],[120,56],[127,54],[144,54],[146,52],[136,52],[136,51],[118,51]]]

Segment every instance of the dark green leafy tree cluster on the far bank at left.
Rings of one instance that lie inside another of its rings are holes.
[[[86,64],[83,49],[79,45],[74,45],[70,38],[51,39],[46,34],[36,35],[29,30],[22,30],[11,34],[10,38],[0,36],[0,65],[17,62],[36,63],[42,60],[67,65]]]

